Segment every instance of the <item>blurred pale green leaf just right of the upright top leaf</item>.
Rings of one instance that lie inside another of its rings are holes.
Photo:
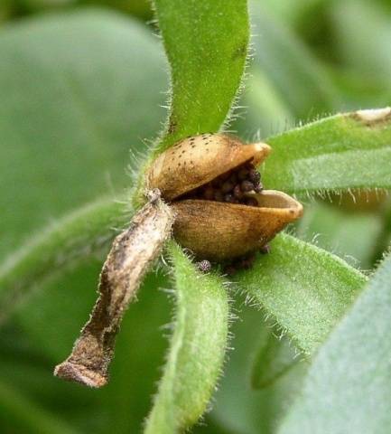
[[[250,3],[254,24],[253,68],[275,85],[297,118],[309,118],[340,105],[337,90],[320,62],[290,29],[265,11],[263,2]]]

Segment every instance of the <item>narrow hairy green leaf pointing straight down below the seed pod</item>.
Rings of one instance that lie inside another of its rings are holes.
[[[228,295],[171,245],[177,307],[167,363],[145,433],[182,432],[199,420],[215,389],[228,339]]]

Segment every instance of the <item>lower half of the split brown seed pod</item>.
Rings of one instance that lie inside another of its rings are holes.
[[[288,194],[264,190],[252,194],[259,206],[184,200],[172,203],[173,235],[201,259],[224,260],[259,250],[303,214]]]

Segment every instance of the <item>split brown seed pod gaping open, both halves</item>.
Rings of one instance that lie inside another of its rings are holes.
[[[262,248],[303,214],[301,203],[274,190],[243,193],[251,205],[228,203],[230,197],[227,202],[200,197],[203,186],[219,184],[217,180],[229,174],[237,179],[240,167],[259,165],[270,151],[264,143],[244,145],[237,137],[204,134],[186,138],[157,157],[147,174],[147,188],[158,188],[171,202],[173,235],[183,247],[201,259],[237,258]]]

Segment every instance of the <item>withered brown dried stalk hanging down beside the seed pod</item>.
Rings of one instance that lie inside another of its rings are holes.
[[[97,304],[72,353],[56,366],[54,375],[90,387],[107,383],[108,365],[126,307],[170,236],[172,222],[171,209],[154,189],[129,228],[113,242],[100,273]]]

